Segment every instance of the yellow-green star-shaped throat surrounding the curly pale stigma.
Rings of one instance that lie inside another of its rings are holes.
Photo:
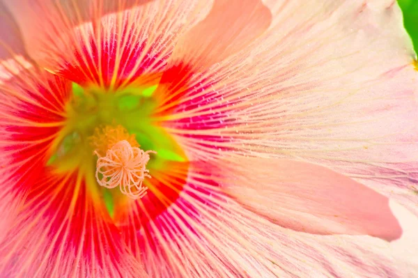
[[[177,142],[153,120],[157,107],[153,98],[156,88],[124,88],[109,92],[73,83],[72,100],[66,106],[66,125],[54,141],[47,165],[61,172],[82,168],[84,173],[94,174],[97,157],[93,155],[91,137],[95,129],[108,125],[121,125],[129,134],[135,135],[141,150],[157,152],[148,162],[150,171],[164,171],[167,161],[185,162],[187,158]],[[107,200],[112,202],[108,197]]]

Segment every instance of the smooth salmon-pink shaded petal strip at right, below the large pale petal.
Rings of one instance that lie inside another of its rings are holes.
[[[330,169],[264,158],[235,160],[231,165],[222,178],[226,192],[280,226],[385,240],[402,234],[387,197]]]

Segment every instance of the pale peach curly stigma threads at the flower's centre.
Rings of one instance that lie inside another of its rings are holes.
[[[142,198],[146,194],[148,188],[142,183],[144,178],[151,178],[146,164],[150,160],[149,154],[155,151],[144,151],[122,140],[107,150],[105,157],[95,153],[99,157],[95,173],[99,185],[107,188],[119,185],[121,192],[132,199]],[[99,178],[99,174],[102,178]]]

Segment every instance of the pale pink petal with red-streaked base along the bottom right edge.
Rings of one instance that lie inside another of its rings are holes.
[[[401,254],[408,243],[403,238],[388,243],[362,235],[323,236],[284,229],[222,194],[204,169],[192,170],[189,184],[166,212],[144,226],[123,226],[123,235],[141,250],[150,277],[417,274],[417,262]],[[138,213],[134,209],[127,217],[135,219]],[[415,232],[415,240],[417,228],[408,231]]]

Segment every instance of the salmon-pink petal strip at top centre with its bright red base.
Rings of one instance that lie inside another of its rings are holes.
[[[155,92],[160,105],[158,112],[162,114],[170,114],[172,107],[178,105],[178,98],[185,97],[185,92],[190,89],[203,93],[204,90],[199,87],[207,86],[212,77],[202,75],[201,71],[227,57],[240,56],[240,51],[254,43],[268,29],[272,20],[270,10],[261,0],[245,3],[240,0],[215,0],[207,15],[206,8],[201,9],[207,1],[197,2],[199,4],[192,14],[203,15],[203,20],[197,24],[184,21],[192,29],[178,37]],[[203,82],[206,78],[208,80]],[[185,100],[190,98],[186,97]],[[180,105],[192,107],[192,104]]]

